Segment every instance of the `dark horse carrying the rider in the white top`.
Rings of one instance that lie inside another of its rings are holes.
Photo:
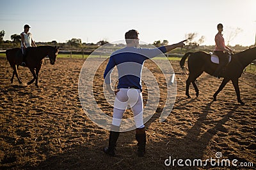
[[[38,47],[29,47],[27,50],[26,55],[26,67],[29,68],[31,73],[33,74],[33,79],[28,82],[28,85],[33,83],[35,80],[35,85],[38,87],[38,74],[41,69],[43,59],[48,56],[50,63],[54,64],[56,57],[58,55],[58,50],[56,46],[38,46]],[[18,68],[22,62],[22,52],[20,48],[12,48],[10,50],[6,50],[6,57],[8,62],[10,63],[10,66],[13,68],[13,74],[11,78],[11,83],[13,83],[14,74],[17,77],[19,83],[20,81],[19,74],[18,74]]]

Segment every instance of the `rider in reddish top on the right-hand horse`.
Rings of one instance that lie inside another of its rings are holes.
[[[218,24],[217,29],[218,29],[218,33],[215,36],[216,46],[214,49],[214,53],[219,57],[219,65],[216,71],[214,72],[213,76],[220,78],[221,71],[228,64],[228,53],[224,53],[224,52],[232,52],[232,50],[225,45],[223,35],[221,34],[221,32],[223,31],[223,25]]]

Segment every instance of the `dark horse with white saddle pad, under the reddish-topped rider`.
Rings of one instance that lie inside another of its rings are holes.
[[[189,57],[189,58],[188,58]],[[211,55],[205,52],[195,52],[186,53],[182,59],[180,60],[180,67],[184,69],[185,60],[188,58],[188,69],[189,69],[189,77],[186,81],[186,96],[189,96],[189,85],[192,82],[195,91],[196,97],[199,95],[199,90],[196,87],[196,78],[198,78],[204,71],[208,74],[213,74],[216,70],[218,64],[214,64],[211,62]],[[243,70],[248,64],[252,62],[252,60],[256,59],[256,48],[250,48],[248,50],[244,50],[243,52],[236,53],[232,55],[232,59],[230,63],[225,67],[225,71],[221,73],[221,77],[223,81],[219,87],[219,89],[213,95],[213,101],[216,101],[217,95],[220,91],[225,87],[228,81],[232,81],[234,88],[236,90],[237,101],[241,104],[244,104],[240,98],[240,90],[238,85],[238,78],[241,77]]]

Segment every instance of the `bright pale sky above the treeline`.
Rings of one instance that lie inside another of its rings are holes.
[[[214,45],[216,25],[222,23],[226,43],[239,28],[230,45],[248,46],[255,43],[255,8],[255,0],[1,0],[0,31],[10,40],[29,24],[35,41],[80,38],[82,43],[96,43],[124,39],[126,31],[136,29],[142,41],[167,39],[169,44],[196,32],[197,39],[205,36],[202,45]]]

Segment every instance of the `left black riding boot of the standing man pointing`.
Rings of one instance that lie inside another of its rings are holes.
[[[104,148],[104,152],[113,157],[115,156],[116,141],[119,137],[120,132],[119,127],[117,126],[112,125],[111,129],[113,129],[113,131],[110,131],[108,147]]]

